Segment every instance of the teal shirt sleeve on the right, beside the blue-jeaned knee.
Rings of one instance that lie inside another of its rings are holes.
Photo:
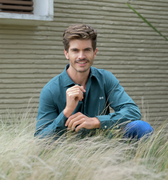
[[[141,113],[138,106],[124,91],[124,88],[119,84],[119,81],[110,72],[105,71],[104,75],[107,102],[108,105],[113,108],[114,113],[97,116],[101,128],[113,128],[116,125],[120,127],[121,124],[126,122],[140,120]]]

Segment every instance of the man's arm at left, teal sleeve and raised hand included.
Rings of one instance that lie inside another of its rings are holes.
[[[83,99],[85,89],[75,85],[66,91],[66,107],[58,114],[57,106],[53,102],[49,89],[43,89],[40,94],[35,136],[49,137],[57,133],[58,136],[66,130],[65,122],[75,110],[78,102]],[[61,103],[61,102],[58,102]]]

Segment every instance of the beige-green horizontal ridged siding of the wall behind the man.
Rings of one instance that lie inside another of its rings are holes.
[[[168,119],[168,42],[144,23],[125,0],[57,0],[54,22],[43,26],[0,25],[0,113],[27,111],[36,116],[42,87],[62,72],[62,33],[76,23],[98,31],[94,66],[111,71],[152,125]],[[130,1],[168,38],[168,4]]]

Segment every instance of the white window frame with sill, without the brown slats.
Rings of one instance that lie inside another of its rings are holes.
[[[53,0],[33,0],[33,14],[0,12],[0,24],[41,25],[54,19]]]

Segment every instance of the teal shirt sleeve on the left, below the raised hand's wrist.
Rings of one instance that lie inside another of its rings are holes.
[[[50,90],[43,89],[39,99],[39,109],[34,136],[39,136],[40,138],[53,135],[60,136],[66,129],[66,120],[67,118],[64,116],[63,111],[58,113]]]

